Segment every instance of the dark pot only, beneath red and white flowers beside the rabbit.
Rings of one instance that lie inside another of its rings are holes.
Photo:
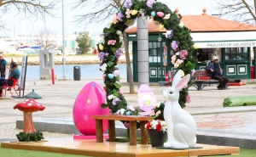
[[[162,147],[165,143],[166,132],[148,131],[152,147]]]

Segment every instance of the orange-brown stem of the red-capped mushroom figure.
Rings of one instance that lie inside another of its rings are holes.
[[[23,132],[31,133],[36,132],[32,121],[32,112],[23,112],[24,115],[24,128]]]

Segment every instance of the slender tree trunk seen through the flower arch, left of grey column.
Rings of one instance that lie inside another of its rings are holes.
[[[133,85],[133,76],[131,72],[131,60],[130,60],[130,54],[129,54],[129,42],[127,41],[126,33],[123,33],[123,40],[125,44],[125,58],[126,58],[126,65],[127,65],[127,73],[128,73],[128,80],[129,80],[129,87],[130,87],[130,93],[135,94],[135,89]]]

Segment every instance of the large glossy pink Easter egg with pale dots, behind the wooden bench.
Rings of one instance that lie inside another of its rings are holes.
[[[73,122],[84,135],[96,135],[96,121],[91,115],[109,114],[109,109],[102,109],[106,102],[106,93],[95,81],[87,83],[79,92],[73,105]],[[103,120],[103,132],[108,129],[108,121]]]

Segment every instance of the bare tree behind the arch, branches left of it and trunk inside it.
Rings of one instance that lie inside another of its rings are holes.
[[[90,1],[90,0],[77,0],[75,3],[73,3],[73,8],[84,8],[85,6],[90,6],[91,11],[88,14],[81,14],[76,15],[76,22],[80,24],[88,24],[91,22],[102,22],[104,20],[108,20],[109,18],[113,17],[113,14],[117,13],[117,10],[120,6],[122,6],[125,3],[125,0],[98,0],[98,1]],[[102,6],[102,7],[101,7]],[[126,64],[127,64],[127,72],[128,72],[128,80],[129,80],[129,86],[130,86],[130,93],[134,94],[134,83],[133,83],[133,76],[131,72],[131,60],[130,60],[130,54],[128,50],[128,40],[127,36],[124,32],[123,34],[123,40],[125,44],[125,58],[126,58]]]

